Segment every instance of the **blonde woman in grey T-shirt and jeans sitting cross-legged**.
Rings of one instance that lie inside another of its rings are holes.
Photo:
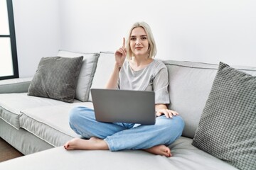
[[[101,123],[95,120],[92,109],[79,106],[70,111],[70,127],[88,140],[75,138],[64,147],[67,150],[143,149],[171,157],[171,150],[167,146],[181,136],[184,122],[176,111],[166,106],[169,104],[168,72],[164,63],[154,60],[156,45],[149,25],[134,23],[126,44],[127,47],[123,38],[122,47],[114,54],[114,71],[106,88],[154,91],[156,124]]]

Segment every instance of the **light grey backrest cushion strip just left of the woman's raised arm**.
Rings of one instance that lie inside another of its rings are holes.
[[[114,52],[100,52],[97,68],[92,80],[92,89],[105,89],[105,85],[114,69],[114,61]],[[91,94],[88,101],[92,101]]]

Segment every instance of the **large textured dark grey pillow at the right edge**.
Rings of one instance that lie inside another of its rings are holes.
[[[256,169],[256,77],[220,62],[192,145]]]

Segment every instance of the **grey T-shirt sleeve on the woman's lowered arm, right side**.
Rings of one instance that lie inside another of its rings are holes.
[[[155,103],[156,104],[169,104],[169,76],[166,67],[159,70],[153,80],[153,89],[155,92]]]

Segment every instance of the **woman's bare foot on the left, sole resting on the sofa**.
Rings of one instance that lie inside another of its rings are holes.
[[[68,141],[64,148],[67,150],[82,149],[82,150],[108,150],[107,143],[97,137],[91,137],[90,140],[82,140],[75,138]]]

